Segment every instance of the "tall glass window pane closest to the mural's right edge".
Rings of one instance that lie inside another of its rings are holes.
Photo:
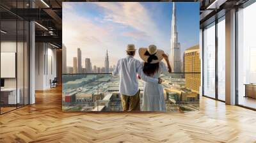
[[[204,95],[215,98],[215,23],[204,29]]]

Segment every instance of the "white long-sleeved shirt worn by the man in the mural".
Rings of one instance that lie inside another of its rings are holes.
[[[127,96],[134,96],[139,91],[137,73],[145,82],[158,83],[158,79],[148,77],[143,73],[140,61],[134,59],[133,56],[118,60],[112,74],[116,76],[118,73],[120,76],[119,92]]]

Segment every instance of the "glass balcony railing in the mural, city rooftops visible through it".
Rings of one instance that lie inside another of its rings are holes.
[[[62,75],[63,111],[122,111],[119,77],[110,73]],[[199,110],[200,73],[163,73],[166,112]],[[143,80],[139,80],[141,111]]]

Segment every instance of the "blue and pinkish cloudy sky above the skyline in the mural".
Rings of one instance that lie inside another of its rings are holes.
[[[176,3],[177,31],[184,50],[199,43],[199,3]],[[92,66],[104,66],[106,50],[112,66],[125,57],[127,44],[136,49],[154,44],[170,55],[171,2],[63,3],[63,44],[67,66],[73,66],[77,48]],[[136,53],[136,58],[138,53]]]

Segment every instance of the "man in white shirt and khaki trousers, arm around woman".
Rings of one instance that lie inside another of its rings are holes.
[[[124,111],[140,110],[140,90],[138,86],[138,75],[145,82],[155,82],[161,84],[162,79],[154,79],[143,73],[141,62],[134,59],[136,49],[133,44],[127,45],[127,57],[119,59],[113,75],[119,73],[119,92],[122,95],[122,106]]]

